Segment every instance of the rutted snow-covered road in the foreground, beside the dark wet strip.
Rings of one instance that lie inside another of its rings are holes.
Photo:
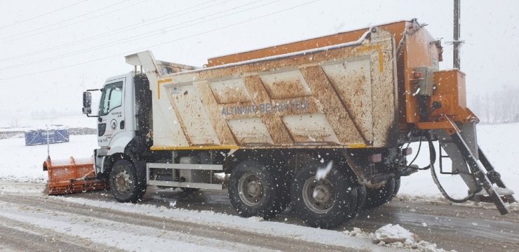
[[[95,201],[81,198],[82,194],[47,197],[34,184],[2,181],[0,185],[0,223],[6,227],[0,230],[0,248],[7,250],[33,250],[40,244],[34,250],[392,251],[333,230]],[[23,195],[15,192],[20,187],[26,187]]]

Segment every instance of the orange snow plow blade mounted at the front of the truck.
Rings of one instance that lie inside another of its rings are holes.
[[[97,180],[95,177],[92,159],[60,159],[43,162],[43,171],[48,172],[48,194],[69,194],[74,192],[87,192],[105,190],[109,188],[107,183]]]

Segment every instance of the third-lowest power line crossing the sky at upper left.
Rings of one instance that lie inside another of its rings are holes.
[[[146,1],[148,1],[148,0],[146,0]],[[172,18],[178,18],[178,17],[181,17],[183,15],[187,15],[189,13],[194,13],[196,11],[201,11],[201,10],[204,10],[206,8],[211,8],[213,6],[220,5],[220,4],[213,4],[213,5],[210,5],[210,6],[205,6],[204,8],[195,9],[194,11],[189,11],[189,12],[186,12],[186,13],[182,13],[183,11],[187,11],[187,10],[189,10],[191,8],[196,8],[198,6],[203,6],[205,4],[208,4],[211,1],[215,1],[215,0],[205,1],[205,2],[203,2],[201,4],[196,4],[195,6],[184,8],[184,9],[182,9],[180,11],[175,11],[173,13],[168,13],[166,15],[161,15],[160,17],[157,17],[157,18],[152,18],[150,20],[144,21],[144,24],[143,24],[143,22],[138,22],[138,23],[133,24],[133,25],[128,25],[126,27],[121,27],[121,28],[118,28],[118,29],[115,29],[115,30],[112,30],[112,31],[109,31],[109,32],[104,32],[104,33],[97,34],[97,35],[94,35],[94,36],[91,36],[91,37],[86,37],[84,39],[79,39],[79,40],[72,41],[72,42],[69,42],[69,43],[61,44],[61,45],[58,45],[58,46],[52,46],[52,47],[49,47],[49,48],[41,49],[39,51],[33,51],[31,53],[24,53],[24,54],[20,54],[20,55],[15,55],[15,56],[11,56],[11,57],[8,57],[8,58],[1,58],[0,62],[4,62],[4,61],[7,61],[7,60],[12,60],[12,59],[19,59],[19,58],[30,56],[30,55],[38,55],[38,54],[41,54],[41,53],[46,53],[48,51],[55,51],[55,50],[60,49],[60,48],[67,48],[69,46],[74,46],[74,45],[77,45],[77,44],[83,44],[85,42],[88,42],[88,41],[91,41],[91,40],[94,40],[94,39],[100,39],[100,38],[107,37],[107,36],[110,36],[110,35],[119,34],[121,32],[126,32],[126,31],[128,31],[130,29],[134,29],[134,28],[138,28],[138,27],[145,27],[145,26],[148,26],[148,25],[155,24],[157,22],[163,22],[165,20],[170,20]],[[142,3],[143,2],[140,2],[138,4],[142,4]],[[182,14],[175,15],[177,13],[182,13]],[[169,16],[169,15],[175,15],[175,16],[172,17],[172,18],[166,18],[166,19],[163,19],[163,20],[159,20],[160,18],[164,18],[164,17]],[[149,22],[149,21],[153,21],[153,20],[158,20],[158,21]],[[73,25],[73,24],[71,24],[71,25]],[[105,36],[105,35],[107,35],[107,36]]]

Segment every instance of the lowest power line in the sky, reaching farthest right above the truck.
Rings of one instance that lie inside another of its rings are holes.
[[[95,60],[88,60],[86,62],[79,62],[79,63],[73,64],[73,65],[68,65],[68,66],[65,66],[65,67],[56,67],[56,68],[53,68],[53,69],[47,69],[45,71],[33,72],[33,73],[29,73],[29,74],[21,74],[21,75],[15,76],[15,77],[9,77],[9,78],[4,78],[4,79],[0,79],[0,80],[4,81],[4,80],[8,80],[8,79],[16,79],[16,78],[20,78],[20,77],[27,77],[27,76],[31,76],[31,75],[34,75],[34,74],[43,74],[43,73],[46,73],[46,72],[54,72],[54,71],[58,71],[58,70],[61,70],[61,69],[67,69],[67,68],[70,68],[70,67],[76,67],[76,66],[79,66],[79,65],[85,65],[85,64],[88,64],[88,63],[91,63],[91,62],[97,62],[97,61],[100,61],[100,60],[106,60],[108,58],[113,58],[113,57],[120,56],[120,55],[129,55],[130,53],[135,53],[135,51],[142,51],[142,50],[145,50],[147,48],[156,47],[156,46],[162,46],[164,44],[170,44],[172,42],[181,41],[181,40],[184,40],[184,39],[190,39],[192,37],[198,37],[198,36],[203,35],[203,34],[208,34],[208,33],[211,33],[211,32],[217,32],[217,31],[220,31],[221,29],[227,29],[229,27],[234,27],[236,25],[242,25],[242,24],[247,23],[247,22],[252,22],[252,21],[255,21],[255,20],[259,20],[261,18],[267,18],[267,17],[269,17],[271,15],[276,15],[278,13],[282,13],[282,12],[285,12],[285,11],[290,11],[290,10],[293,10],[295,8],[299,8],[301,6],[306,6],[308,4],[313,4],[313,3],[317,2],[317,1],[321,1],[321,0],[308,1],[308,2],[306,2],[304,4],[299,4],[297,6],[292,6],[290,8],[284,8],[283,10],[275,11],[273,13],[269,13],[269,14],[265,14],[265,15],[260,15],[259,17],[251,18],[249,20],[245,20],[245,21],[242,21],[242,22],[236,22],[234,24],[226,25],[224,27],[210,29],[208,31],[200,32],[200,33],[197,33],[197,34],[191,34],[191,35],[189,35],[187,37],[182,37],[182,38],[179,38],[179,39],[173,39],[173,40],[170,40],[170,41],[165,41],[165,42],[162,42],[162,43],[159,43],[159,44],[154,44],[154,45],[151,45],[151,46],[147,46],[146,48],[137,48],[137,49],[135,49],[133,51],[127,51],[126,53],[117,53],[117,54],[114,54],[114,55],[109,55],[107,57],[97,58]]]

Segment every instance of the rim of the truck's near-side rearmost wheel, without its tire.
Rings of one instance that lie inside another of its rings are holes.
[[[303,201],[315,213],[328,213],[335,206],[335,190],[327,179],[311,177],[303,185]]]

